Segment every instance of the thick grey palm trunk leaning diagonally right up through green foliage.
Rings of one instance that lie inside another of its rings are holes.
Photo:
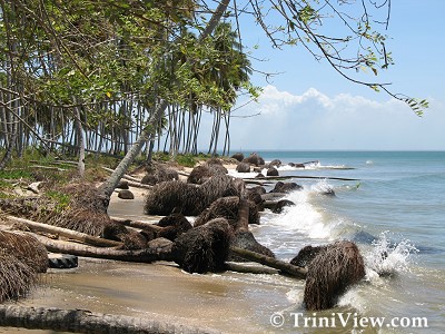
[[[215,10],[212,17],[210,18],[206,29],[199,36],[198,43],[202,43],[204,39],[208,37],[214,30],[215,27],[218,24],[220,18],[222,17],[224,12],[226,11],[227,7],[229,6],[230,0],[222,0],[219,2],[217,9]],[[156,108],[156,110],[151,114],[148,126],[146,129],[140,134],[138,140],[131,146],[128,150],[125,158],[120,161],[118,167],[111,174],[111,176],[100,186],[100,190],[108,197],[111,196],[112,191],[115,190],[117,184],[119,183],[120,178],[123,174],[126,174],[127,169],[130,167],[131,163],[135,158],[139,155],[144,144],[147,140],[151,140],[156,134],[156,124],[164,115],[168,104],[166,100],[162,100]]]

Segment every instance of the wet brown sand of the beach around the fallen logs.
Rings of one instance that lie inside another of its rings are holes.
[[[142,194],[135,200],[113,194],[109,214],[156,220],[142,215]],[[172,263],[134,264],[79,258],[76,269],[50,269],[23,306],[80,308],[210,327],[224,333],[274,333],[274,312],[293,305],[290,291],[303,282],[278,275],[188,274]],[[0,333],[55,333],[0,328]]]

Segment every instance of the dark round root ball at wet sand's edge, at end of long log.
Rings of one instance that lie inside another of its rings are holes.
[[[217,218],[194,227],[176,238],[171,255],[188,273],[208,273],[225,269],[231,227],[227,219]]]

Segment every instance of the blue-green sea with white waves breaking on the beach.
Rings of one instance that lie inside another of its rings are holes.
[[[444,151],[256,153],[304,187],[286,196],[295,206],[263,214],[257,240],[284,261],[306,245],[353,240],[366,264],[333,310],[307,312],[303,287],[289,289],[294,304],[270,318],[277,333],[445,333]]]

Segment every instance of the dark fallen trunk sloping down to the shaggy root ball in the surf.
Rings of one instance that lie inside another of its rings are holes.
[[[280,272],[288,274],[290,276],[300,278],[300,279],[306,279],[306,275],[307,275],[307,269],[306,268],[301,268],[301,267],[297,267],[294,266],[289,263],[269,257],[269,256],[265,256],[255,252],[250,252],[247,249],[243,249],[239,247],[230,247],[230,250],[233,253],[235,253],[236,255],[238,255],[239,257],[243,257],[245,259],[248,261],[253,261],[253,262],[257,262],[260,263],[263,265],[279,269]]]

